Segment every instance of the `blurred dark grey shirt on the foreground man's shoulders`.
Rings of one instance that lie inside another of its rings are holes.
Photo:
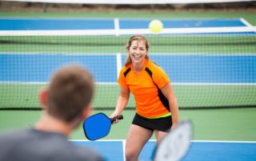
[[[34,129],[15,130],[0,134],[0,148],[6,159],[20,158],[20,160],[92,160],[101,161],[102,158],[93,150],[81,147],[69,141],[64,135],[54,132],[41,132]],[[20,156],[27,154],[27,156]],[[23,158],[22,158],[23,157]]]

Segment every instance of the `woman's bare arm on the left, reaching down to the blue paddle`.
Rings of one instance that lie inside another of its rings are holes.
[[[111,114],[110,118],[119,116],[122,113],[122,110],[124,108],[126,108],[126,105],[128,104],[129,97],[130,97],[130,89],[120,87],[120,94],[118,96],[118,102],[117,102],[115,110]]]

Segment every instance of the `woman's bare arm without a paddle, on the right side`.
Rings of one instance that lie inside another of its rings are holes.
[[[178,101],[176,99],[176,96],[174,95],[174,90],[171,87],[170,83],[165,84],[161,88],[161,91],[162,94],[166,96],[166,99],[169,101],[169,107],[173,123],[171,128],[174,128],[178,125]]]

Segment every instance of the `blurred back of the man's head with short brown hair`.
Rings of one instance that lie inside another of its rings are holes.
[[[93,93],[90,73],[78,65],[66,66],[54,73],[45,98],[41,94],[41,103],[50,116],[70,123],[90,107]]]

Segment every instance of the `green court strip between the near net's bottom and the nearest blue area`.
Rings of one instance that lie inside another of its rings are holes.
[[[1,111],[0,131],[33,127],[42,111]],[[105,112],[110,116],[113,111]],[[194,140],[256,141],[256,108],[181,110],[180,120],[190,119],[194,124]],[[104,139],[125,139],[134,116],[133,110],[122,112],[124,120],[111,127]],[[86,139],[80,126],[70,139]],[[154,136],[151,138],[154,139]]]

